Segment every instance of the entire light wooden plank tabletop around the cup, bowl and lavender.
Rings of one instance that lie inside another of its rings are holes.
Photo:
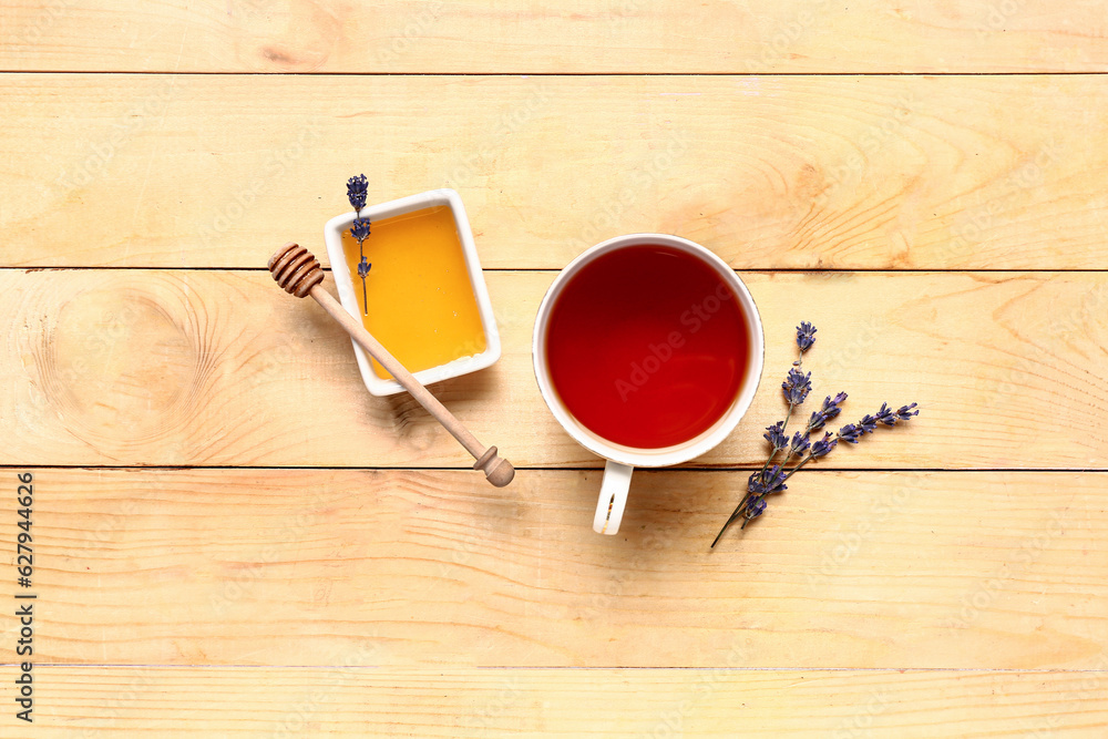
[[[1105,3],[123,4],[0,8],[0,736],[1108,735]],[[435,391],[507,489],[265,271],[359,172],[465,203],[503,357]],[[530,341],[630,232],[768,352],[608,537]],[[711,551],[801,320],[843,420],[923,413]]]

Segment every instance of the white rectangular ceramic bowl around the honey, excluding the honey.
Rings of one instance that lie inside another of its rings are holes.
[[[481,328],[485,335],[485,350],[480,355],[461,357],[445,365],[431,367],[416,372],[416,379],[423,384],[440,382],[452,377],[469,374],[478,370],[490,367],[500,359],[500,333],[496,330],[496,318],[492,312],[492,302],[489,300],[489,289],[484,284],[484,275],[481,271],[481,263],[478,260],[478,249],[473,245],[473,233],[470,230],[470,220],[465,216],[465,207],[462,206],[462,198],[452,189],[431,189],[419,195],[409,195],[397,201],[389,201],[379,205],[368,205],[361,209],[362,218],[380,220],[391,218],[412,211],[422,211],[445,205],[454,216],[454,227],[458,229],[458,240],[462,245],[462,254],[465,258],[465,269],[470,276],[470,286],[473,288],[473,297],[476,299],[478,311],[481,315]],[[355,292],[353,276],[347,265],[346,255],[342,252],[342,232],[349,230],[357,217],[353,211],[341,216],[336,216],[324,226],[324,240],[327,244],[327,256],[331,263],[331,275],[335,285],[338,287],[339,300],[342,307],[351,316],[361,320],[361,310],[358,307],[358,297]],[[373,237],[370,236],[370,239]],[[368,242],[369,243],[369,242]],[[353,353],[358,359],[358,368],[361,370],[361,379],[366,382],[366,388],[375,396],[394,396],[403,392],[404,389],[396,380],[386,380],[377,376],[365,350],[353,343]],[[384,347],[388,349],[389,347]]]

